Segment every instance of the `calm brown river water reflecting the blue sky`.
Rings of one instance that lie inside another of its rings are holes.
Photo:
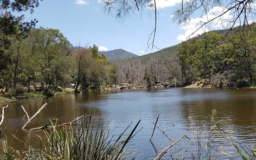
[[[16,132],[16,137],[20,141],[37,139],[36,135],[43,135],[42,130],[28,131],[21,127],[26,122],[23,119],[24,112],[20,107],[23,105],[30,117],[44,104],[47,107],[28,126],[28,129],[39,127],[49,119],[60,117],[62,122],[73,120],[84,112],[98,119],[108,120],[112,123],[112,128],[116,128],[113,133],[120,133],[124,128],[133,122],[137,123],[142,119],[139,127],[143,129],[135,136],[132,142],[132,149],[137,149],[143,153],[138,159],[153,159],[156,154],[169,145],[169,140],[156,130],[152,138],[153,144],[149,142],[153,124],[160,113],[158,124],[169,137],[177,139],[188,133],[189,139],[181,141],[180,148],[176,146],[170,150],[173,155],[196,151],[193,140],[193,131],[199,133],[202,139],[202,148],[205,148],[205,140],[215,133],[210,133],[211,110],[217,110],[217,120],[223,119],[218,126],[232,135],[236,141],[246,146],[253,140],[253,121],[256,122],[256,89],[184,89],[184,88],[160,88],[160,89],[135,89],[135,90],[113,90],[100,92],[87,92],[81,94],[66,94],[54,97],[46,97],[41,101],[23,101],[8,104],[5,109],[5,119],[1,126],[2,130],[7,130],[7,141],[12,139],[12,134]],[[1,104],[1,107],[6,104]],[[191,120],[189,120],[191,118]],[[205,125],[203,128],[202,126]],[[1,138],[5,139],[5,138]],[[2,140],[4,145],[6,141]],[[14,140],[12,146],[18,146],[21,142]],[[31,142],[37,145],[34,142]],[[219,153],[220,150],[227,151],[230,143],[222,136],[216,136],[212,146],[215,155],[226,157]],[[232,151],[231,149],[229,149]],[[166,159],[170,158],[168,152]]]

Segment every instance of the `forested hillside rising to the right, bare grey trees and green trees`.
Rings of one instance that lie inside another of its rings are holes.
[[[255,23],[211,31],[179,45],[115,62],[118,83],[255,86]]]

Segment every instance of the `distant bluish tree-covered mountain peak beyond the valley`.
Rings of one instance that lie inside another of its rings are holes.
[[[127,52],[126,50],[123,50],[123,49],[100,51],[99,53],[104,54],[108,61],[118,61],[118,60],[138,57],[138,55],[133,54],[131,52]]]

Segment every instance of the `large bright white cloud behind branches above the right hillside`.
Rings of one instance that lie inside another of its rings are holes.
[[[208,24],[199,29],[199,27],[204,22],[208,22],[209,20],[219,16],[220,14],[222,14],[225,11],[226,11],[226,9],[224,9],[223,7],[217,6],[217,7],[213,7],[212,9],[210,9],[209,12],[207,12],[207,14],[202,17],[192,18],[188,22],[188,24],[183,24],[183,26],[180,28],[182,30],[185,30],[185,34],[179,35],[177,37],[177,40],[187,40],[189,36],[190,36],[189,38],[192,38],[192,37],[200,35],[204,32],[208,32],[209,30],[217,30],[217,29],[220,29],[223,27],[227,27],[228,25],[230,25],[228,20],[232,18],[230,15],[231,12],[226,12],[220,18],[214,19],[211,22],[211,24]],[[199,30],[197,30],[197,29],[199,29]],[[193,32],[195,32],[195,33],[193,35],[191,35]]]

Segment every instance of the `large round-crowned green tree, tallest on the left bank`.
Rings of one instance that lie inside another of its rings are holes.
[[[39,64],[38,77],[41,88],[48,92],[51,87],[65,86],[69,77],[71,61],[67,57],[67,50],[64,43],[69,43],[66,37],[57,29],[44,29],[40,27],[33,31],[36,38],[35,55]],[[70,45],[70,44],[69,44]]]

